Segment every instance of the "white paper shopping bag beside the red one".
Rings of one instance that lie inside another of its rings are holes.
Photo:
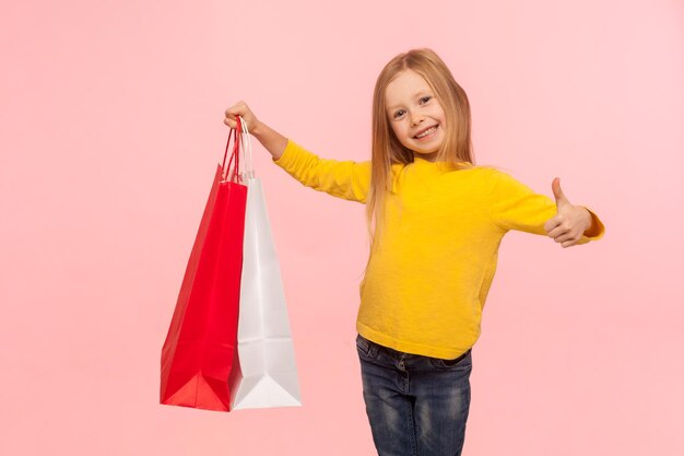
[[[232,409],[300,406],[294,343],[266,199],[255,177],[249,130],[243,122],[247,209],[237,350],[241,375]]]

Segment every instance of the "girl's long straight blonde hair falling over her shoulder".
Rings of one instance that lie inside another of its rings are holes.
[[[447,129],[437,151],[436,161],[440,162],[437,165],[447,171],[475,167],[470,103],[449,68],[435,51],[427,48],[412,49],[391,59],[378,75],[373,94],[372,174],[366,199],[366,223],[372,250],[379,248],[386,200],[392,190],[391,166],[413,162],[413,151],[405,148],[390,128],[385,97],[389,83],[408,69],[425,79],[445,113]]]

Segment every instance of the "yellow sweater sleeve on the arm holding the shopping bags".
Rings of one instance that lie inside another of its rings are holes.
[[[350,201],[366,202],[370,186],[370,161],[357,163],[321,159],[288,139],[285,151],[273,163],[315,190]]]

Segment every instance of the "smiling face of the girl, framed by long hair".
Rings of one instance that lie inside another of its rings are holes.
[[[385,100],[399,142],[434,162],[445,138],[446,119],[427,82],[415,71],[403,70],[387,85]]]

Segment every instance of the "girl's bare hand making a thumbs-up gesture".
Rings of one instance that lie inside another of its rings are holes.
[[[556,215],[544,223],[549,237],[561,243],[563,248],[570,247],[591,227],[592,218],[581,206],[574,206],[561,189],[561,179],[556,177],[551,184],[556,198]]]

